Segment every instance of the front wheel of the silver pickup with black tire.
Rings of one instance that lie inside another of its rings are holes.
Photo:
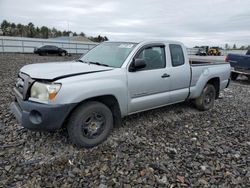
[[[67,124],[70,140],[76,146],[86,148],[101,144],[107,139],[112,129],[111,110],[103,103],[96,101],[79,106],[72,113]]]

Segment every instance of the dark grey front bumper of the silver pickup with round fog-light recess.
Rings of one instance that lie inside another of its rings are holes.
[[[76,104],[50,105],[16,98],[10,110],[21,126],[35,131],[59,129]]]

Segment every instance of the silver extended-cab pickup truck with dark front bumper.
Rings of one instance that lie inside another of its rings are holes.
[[[104,42],[73,62],[24,66],[11,111],[23,127],[66,127],[72,142],[103,142],[124,116],[193,99],[213,107],[230,65],[190,61],[174,41]]]

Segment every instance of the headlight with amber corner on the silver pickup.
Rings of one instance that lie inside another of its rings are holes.
[[[46,84],[35,82],[31,87],[30,97],[41,101],[49,101],[55,99],[61,88],[61,84]]]

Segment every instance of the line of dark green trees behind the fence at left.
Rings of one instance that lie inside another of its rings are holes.
[[[69,36],[70,33],[73,36],[83,36],[90,39],[93,42],[103,42],[107,41],[108,38],[106,36],[98,35],[96,37],[93,36],[86,36],[84,32],[76,33],[72,31],[60,31],[56,28],[48,28],[47,26],[38,27],[35,26],[32,22],[28,23],[27,25],[23,24],[15,24],[12,22],[8,22],[7,20],[3,20],[1,23],[1,32],[0,36],[14,36],[14,37],[30,37],[30,38],[55,38],[55,37],[62,37],[62,36]]]

